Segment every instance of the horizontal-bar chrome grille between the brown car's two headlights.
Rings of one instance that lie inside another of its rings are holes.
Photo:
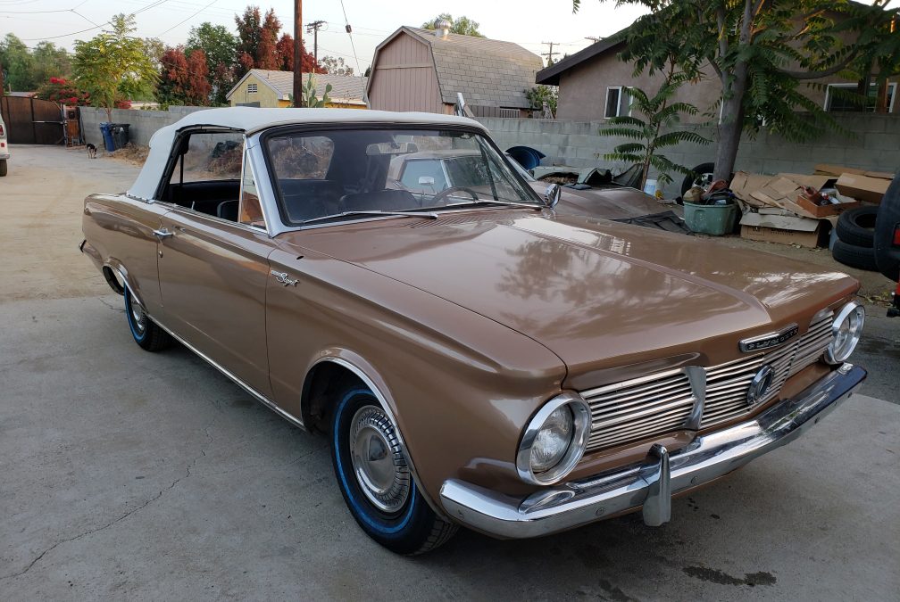
[[[797,341],[749,358],[704,368],[706,399],[700,428],[750,414],[754,408],[778,396],[790,376],[822,357],[832,341],[832,319],[833,314],[819,314]],[[747,392],[753,377],[766,364],[775,370],[770,391],[759,403],[750,406]],[[600,386],[581,392],[581,396],[590,405],[588,451],[683,429],[697,401],[684,369]]]

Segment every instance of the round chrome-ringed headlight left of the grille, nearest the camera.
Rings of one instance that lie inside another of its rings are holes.
[[[557,395],[528,423],[518,447],[516,467],[525,482],[559,482],[581,460],[588,445],[590,407],[581,395]]]

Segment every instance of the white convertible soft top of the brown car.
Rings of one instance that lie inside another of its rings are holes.
[[[210,126],[243,130],[247,135],[272,126],[292,123],[420,123],[427,125],[473,126],[484,129],[478,121],[439,113],[398,113],[393,111],[365,111],[361,109],[257,109],[232,107],[195,111],[170,126],[159,128],[150,137],[150,153],[138,179],[128,194],[137,199],[152,199],[159,179],[166,168],[175,134],[184,128]],[[487,131],[487,130],[485,130]]]

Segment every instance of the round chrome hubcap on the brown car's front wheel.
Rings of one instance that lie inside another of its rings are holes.
[[[366,405],[350,428],[350,458],[365,497],[383,512],[397,512],[410,496],[410,470],[391,419]]]

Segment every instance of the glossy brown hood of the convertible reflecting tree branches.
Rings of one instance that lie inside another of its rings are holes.
[[[510,210],[288,236],[504,324],[579,372],[685,354],[734,359],[739,338],[792,322],[804,332],[858,287],[840,272],[706,239]]]

